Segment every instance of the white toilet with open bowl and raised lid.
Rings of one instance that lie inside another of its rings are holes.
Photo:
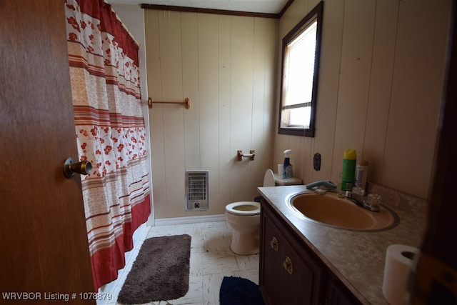
[[[274,174],[267,169],[263,186],[275,186]],[[230,249],[236,254],[258,254],[260,239],[260,203],[238,201],[226,205],[226,221],[233,229]]]

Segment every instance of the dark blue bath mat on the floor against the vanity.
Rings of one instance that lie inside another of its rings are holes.
[[[221,305],[264,305],[262,294],[258,286],[236,276],[224,276],[219,291]]]

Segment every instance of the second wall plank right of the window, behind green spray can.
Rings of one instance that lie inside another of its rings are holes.
[[[363,156],[370,84],[376,1],[348,1],[344,5],[341,74],[338,88],[333,177],[338,181],[345,149]]]

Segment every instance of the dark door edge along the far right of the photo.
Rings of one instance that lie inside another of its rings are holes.
[[[457,304],[457,5],[454,1],[448,66],[438,124],[428,227],[416,277],[410,281],[410,304]]]

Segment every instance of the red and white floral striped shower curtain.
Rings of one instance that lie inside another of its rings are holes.
[[[95,289],[117,278],[151,212],[138,45],[104,0],[66,0],[71,90]]]

